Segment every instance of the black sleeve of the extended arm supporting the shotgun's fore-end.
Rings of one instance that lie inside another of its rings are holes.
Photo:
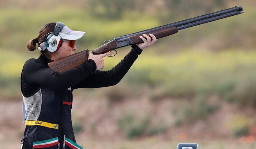
[[[97,88],[97,87],[107,87],[116,85],[128,72],[132,64],[141,54],[142,50],[133,45],[131,51],[109,71],[96,70],[91,75],[86,77],[84,80],[76,84],[72,89],[77,88]]]

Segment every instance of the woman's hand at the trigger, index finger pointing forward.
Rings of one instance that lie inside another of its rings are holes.
[[[114,54],[113,52],[107,52],[101,55],[94,55],[93,52],[91,52],[88,56],[88,60],[94,60],[96,63],[96,70],[102,69],[104,67],[104,57]]]

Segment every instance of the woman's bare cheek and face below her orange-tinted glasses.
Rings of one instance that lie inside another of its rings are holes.
[[[75,53],[76,45],[74,45],[73,48],[70,47],[69,41],[70,40],[64,40],[62,42],[62,45],[61,45],[61,47],[59,47],[59,50],[58,50],[59,52],[58,53],[56,52],[54,55],[54,60],[60,60],[62,58],[65,58],[65,57]]]

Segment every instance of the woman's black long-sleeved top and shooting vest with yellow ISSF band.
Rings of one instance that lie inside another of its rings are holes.
[[[79,67],[58,73],[47,67],[51,60],[43,54],[38,59],[29,59],[21,73],[26,124],[21,142],[23,148],[82,148],[76,144],[72,129],[72,91],[117,84],[142,52],[139,47],[132,47],[109,71],[96,70],[95,62],[87,60]]]

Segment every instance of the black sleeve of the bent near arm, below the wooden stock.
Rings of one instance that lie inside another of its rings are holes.
[[[87,60],[79,67],[58,73],[48,68],[41,60],[30,59],[24,64],[22,74],[30,84],[62,90],[78,84],[95,70],[96,64],[93,60]]]

